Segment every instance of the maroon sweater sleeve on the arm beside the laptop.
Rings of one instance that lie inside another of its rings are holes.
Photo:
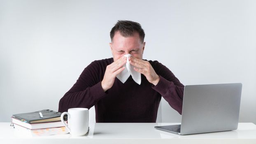
[[[161,63],[156,61],[153,67],[160,80],[156,86],[152,85],[152,88],[160,93],[173,109],[182,114],[184,85]]]

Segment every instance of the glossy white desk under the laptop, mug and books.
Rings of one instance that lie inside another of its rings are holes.
[[[239,123],[233,131],[196,135],[176,135],[154,128],[172,124],[179,123],[90,123],[87,136],[23,137],[10,123],[0,123],[0,144],[256,144],[254,123]]]

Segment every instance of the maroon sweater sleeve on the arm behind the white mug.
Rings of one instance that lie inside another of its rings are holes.
[[[96,61],[88,65],[81,73],[77,82],[65,93],[59,102],[59,112],[67,111],[69,108],[83,107],[90,109],[98,100],[104,98],[106,93],[101,86],[100,69]]]

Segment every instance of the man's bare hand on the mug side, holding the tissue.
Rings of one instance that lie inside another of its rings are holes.
[[[101,81],[101,86],[104,91],[107,91],[109,88],[113,86],[116,75],[125,69],[125,67],[123,67],[125,63],[126,57],[122,56],[121,58],[107,66],[104,78]]]

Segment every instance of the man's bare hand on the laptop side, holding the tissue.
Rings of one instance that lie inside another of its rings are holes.
[[[144,76],[147,78],[147,80],[156,86],[158,84],[158,81],[160,80],[160,77],[156,74],[153,67],[150,65],[150,63],[146,60],[138,59],[133,56],[130,56],[129,58],[130,64],[137,67],[134,67],[134,70],[136,72],[140,72],[141,74],[144,74]]]

